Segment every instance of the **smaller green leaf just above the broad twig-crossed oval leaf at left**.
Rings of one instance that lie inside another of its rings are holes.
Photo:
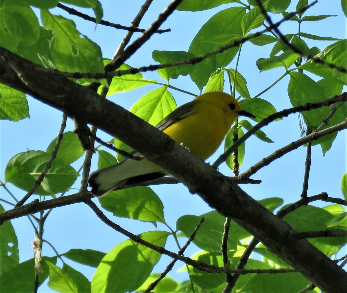
[[[52,153],[56,142],[57,139],[52,140],[46,150],[47,153]],[[77,138],[77,135],[73,131],[64,132],[56,158],[59,158],[67,165],[70,165],[72,162],[81,158],[83,154],[84,150]]]

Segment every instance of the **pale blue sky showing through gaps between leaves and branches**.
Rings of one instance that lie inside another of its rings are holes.
[[[127,1],[101,1],[104,9],[104,20],[119,23],[122,25],[130,25],[134,16],[137,14],[143,1],[133,0],[131,4]],[[126,3],[127,2],[127,3]],[[149,11],[141,21],[140,27],[147,28],[153,20],[158,16],[164,7],[170,1],[153,1]],[[287,11],[295,10],[296,2],[293,2]],[[223,5],[206,11],[185,12],[175,11],[169,17],[161,28],[171,28],[171,32],[164,34],[155,34],[150,41],[145,43],[134,56],[127,60],[127,64],[133,67],[147,66],[155,62],[151,58],[153,50],[182,50],[187,51],[193,37],[199,31],[201,26],[211,18],[215,13],[223,9],[234,6],[233,3]],[[74,7],[76,8],[76,7]],[[91,10],[78,9],[89,15],[93,15]],[[91,40],[100,45],[103,57],[112,58],[118,44],[125,35],[123,30],[115,30],[110,27],[95,24],[81,20],[77,17],[71,17],[61,9],[52,9],[52,13],[60,14],[67,18],[72,18],[77,29],[87,35]],[[306,15],[322,15],[322,14],[338,14],[337,17],[330,17],[320,22],[305,22],[301,31],[311,34],[319,34],[320,36],[331,36],[337,38],[346,37],[345,16],[340,7],[340,1],[321,0]],[[279,20],[281,15],[273,18],[274,21]],[[294,28],[293,28],[294,27]],[[297,31],[296,22],[286,22],[280,26],[282,33],[295,33]],[[132,40],[138,37],[139,33],[134,34]],[[309,47],[317,45],[316,41],[307,40]],[[322,50],[331,42],[321,41],[318,47]],[[255,66],[258,58],[268,58],[273,44],[263,47],[255,47],[250,43],[243,45],[242,54],[239,61],[239,71],[246,78],[248,90],[251,97],[264,90],[272,84],[280,75],[284,73],[283,68],[277,68],[260,73]],[[235,62],[227,68],[235,68]],[[158,82],[165,81],[156,74],[156,72],[144,73],[145,78],[155,79]],[[288,78],[285,77],[271,90],[267,91],[261,98],[270,101],[279,111],[291,107],[287,95]],[[180,89],[199,94],[196,85],[191,81],[189,76],[179,77],[171,80],[170,84]],[[113,102],[120,104],[125,109],[130,109],[145,93],[159,87],[158,85],[146,85],[137,90],[120,93],[109,97]],[[193,97],[175,90],[169,90],[176,99],[177,105],[181,105],[191,101]],[[225,89],[228,91],[228,88]],[[50,108],[35,99],[28,97],[30,107],[30,119],[24,119],[20,122],[1,121],[1,153],[0,153],[0,179],[4,181],[3,170],[11,157],[19,152],[26,150],[45,150],[49,143],[57,136],[62,113],[56,109]],[[73,123],[68,120],[66,131],[73,131]],[[300,129],[298,126],[298,118],[296,114],[290,115],[279,122],[271,123],[262,129],[275,143],[269,144],[260,141],[255,137],[251,137],[246,142],[246,154],[241,172],[260,161],[263,157],[268,156],[273,151],[283,147],[284,145],[300,138]],[[105,140],[110,140],[110,136],[101,135]],[[213,163],[215,159],[222,153],[220,148],[214,156],[207,161]],[[306,148],[290,152],[282,158],[273,162],[270,166],[266,166],[252,176],[253,179],[261,179],[259,185],[241,185],[254,199],[259,200],[270,197],[280,197],[286,203],[297,201],[302,191],[302,180],[304,174],[304,162],[306,157]],[[97,156],[93,158],[92,170],[96,167]],[[82,160],[74,163],[75,169],[79,169]],[[220,171],[228,176],[232,176],[232,171],[225,164],[220,166]],[[312,165],[309,181],[308,195],[319,194],[323,191],[329,196],[341,197],[340,181],[342,175],[346,172],[346,134],[344,132],[337,135],[332,148],[322,156],[320,146],[312,148]],[[80,178],[77,178],[75,187],[79,187]],[[16,198],[21,199],[26,192],[18,190],[15,186],[7,184],[8,189],[15,194]],[[163,185],[153,186],[153,190],[159,195],[164,204],[164,216],[167,223],[175,230],[176,220],[186,214],[201,215],[210,211],[209,206],[196,194],[190,194],[185,186]],[[71,189],[67,194],[72,194],[76,190]],[[0,198],[10,200],[5,190],[0,189]],[[97,199],[93,200],[98,203]],[[1,203],[5,209],[10,206]],[[324,206],[323,204],[320,206]],[[144,231],[151,231],[154,228],[152,224],[142,223],[140,221],[116,218],[111,213],[105,211],[105,214],[128,231],[138,234]],[[20,262],[33,257],[33,251],[29,244],[34,240],[34,231],[26,217],[14,219],[11,221],[18,236],[19,257]],[[167,230],[167,228],[159,224],[158,229]],[[113,231],[110,227],[103,224],[94,212],[83,203],[73,204],[70,206],[54,209],[45,223],[44,239],[53,244],[59,253],[64,253],[71,248],[88,248],[100,250],[103,252],[110,251],[114,246],[126,240],[126,237],[120,233]],[[184,243],[186,239],[181,239]],[[172,237],[169,237],[167,249],[178,251]],[[189,246],[186,250],[186,256],[192,256],[198,249]],[[346,254],[346,252],[345,252]],[[54,256],[52,249],[44,244],[43,255]],[[81,270],[81,267],[69,260],[66,261],[70,266]],[[154,269],[160,272],[170,262],[170,259],[163,256]],[[61,266],[61,263],[57,263]],[[173,270],[169,274],[177,281],[187,279],[185,273],[178,273],[177,270],[183,267],[182,263],[176,263]],[[83,267],[81,270],[88,279],[91,280],[95,271],[94,268]],[[47,281],[46,281],[47,282]],[[46,283],[45,282],[45,283]],[[46,284],[39,288],[39,292],[53,292]]]

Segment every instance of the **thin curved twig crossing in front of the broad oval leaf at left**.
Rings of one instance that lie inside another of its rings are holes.
[[[59,150],[59,146],[60,146],[60,142],[63,138],[63,133],[64,133],[64,129],[66,127],[66,120],[67,120],[67,115],[63,114],[63,118],[62,118],[62,122],[60,125],[60,129],[59,129],[59,133],[57,136],[57,141],[56,144],[54,145],[54,148],[52,150],[52,154],[46,164],[46,166],[44,167],[42,173],[40,174],[39,177],[37,177],[33,187],[28,191],[28,193],[16,204],[16,207],[20,207],[23,206],[23,204],[27,201],[27,199],[33,195],[33,193],[35,192],[35,190],[37,189],[37,187],[39,187],[41,185],[41,182],[43,181],[44,177],[46,176],[47,172],[49,171],[49,169],[52,166],[52,163],[54,161],[54,159],[57,156],[58,150]]]

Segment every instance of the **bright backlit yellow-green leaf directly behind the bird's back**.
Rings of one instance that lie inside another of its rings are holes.
[[[149,124],[156,125],[176,108],[174,97],[166,86],[162,86],[146,93],[129,111]]]

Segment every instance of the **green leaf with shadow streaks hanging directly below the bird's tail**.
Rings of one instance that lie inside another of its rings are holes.
[[[99,198],[99,201],[114,216],[165,223],[163,203],[150,187],[138,186],[113,191],[108,196]]]

